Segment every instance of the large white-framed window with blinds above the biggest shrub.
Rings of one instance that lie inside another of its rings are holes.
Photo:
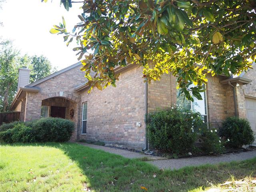
[[[192,85],[194,86],[194,85]],[[198,100],[197,98],[194,98],[194,102],[188,100],[185,97],[185,94],[180,94],[180,97],[178,97],[179,89],[176,90],[176,104],[180,108],[184,110],[194,110],[196,112],[200,112],[200,114],[204,118],[204,122],[207,122],[207,107],[206,107],[206,94],[205,92],[200,92],[202,96],[202,100]]]

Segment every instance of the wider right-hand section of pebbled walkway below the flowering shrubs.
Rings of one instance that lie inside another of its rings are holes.
[[[197,166],[202,164],[217,164],[220,162],[231,162],[231,161],[241,161],[256,157],[256,150],[223,154],[220,156],[200,156],[200,157],[190,157],[190,158],[180,158],[180,159],[166,159],[149,161],[149,163],[162,169],[179,169],[185,166]]]

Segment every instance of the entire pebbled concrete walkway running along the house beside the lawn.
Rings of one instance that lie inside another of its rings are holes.
[[[233,153],[223,154],[220,156],[201,156],[201,157],[190,157],[190,158],[180,158],[180,159],[166,159],[163,157],[145,155],[145,154],[140,154],[137,152],[131,152],[131,151],[122,150],[122,149],[115,149],[115,148],[109,148],[105,146],[98,146],[98,145],[80,143],[80,142],[76,142],[76,143],[90,147],[90,148],[104,150],[109,153],[118,154],[126,158],[147,157],[149,160],[147,161],[148,163],[153,164],[160,169],[161,168],[179,169],[185,166],[198,166],[202,164],[217,164],[220,162],[241,161],[241,160],[246,160],[246,159],[256,157],[256,150],[253,150],[253,151],[241,152],[241,153],[235,153],[235,154]]]

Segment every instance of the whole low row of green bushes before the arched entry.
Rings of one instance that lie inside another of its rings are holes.
[[[0,142],[65,142],[70,139],[74,123],[62,118],[42,118],[32,122],[13,122],[0,132]]]

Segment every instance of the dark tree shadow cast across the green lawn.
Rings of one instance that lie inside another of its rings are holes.
[[[29,144],[35,146],[36,144]],[[248,176],[256,177],[256,158],[243,162],[186,167],[179,170],[159,170],[140,160],[130,160],[115,154],[74,143],[46,143],[63,150],[78,164],[86,176],[87,189],[92,191],[201,191],[210,184],[222,184]]]

